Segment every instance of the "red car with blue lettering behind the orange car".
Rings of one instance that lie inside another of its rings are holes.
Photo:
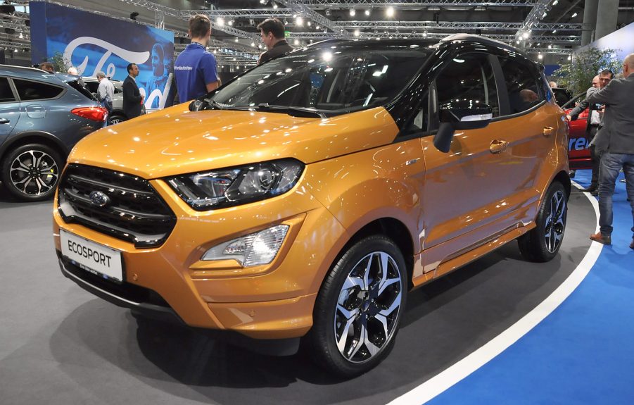
[[[566,115],[576,106],[577,102],[585,99],[585,92],[577,94],[562,106]],[[590,139],[585,133],[585,127],[588,124],[588,108],[582,111],[576,120],[569,122],[568,134],[568,162],[571,170],[591,169],[592,161],[590,160]]]

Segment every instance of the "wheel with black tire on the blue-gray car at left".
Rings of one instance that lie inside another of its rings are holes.
[[[6,154],[2,182],[22,201],[49,199],[55,194],[64,163],[58,152],[46,145],[23,145]]]

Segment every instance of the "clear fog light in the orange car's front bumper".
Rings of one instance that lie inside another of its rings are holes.
[[[233,258],[243,267],[271,263],[288,231],[289,225],[276,225],[260,232],[217,244],[203,254],[202,260]]]

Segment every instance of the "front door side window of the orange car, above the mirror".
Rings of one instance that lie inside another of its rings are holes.
[[[488,104],[493,116],[500,116],[500,102],[493,69],[486,54],[465,54],[454,58],[436,78],[438,105],[456,99]]]

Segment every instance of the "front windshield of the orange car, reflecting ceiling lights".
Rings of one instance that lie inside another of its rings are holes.
[[[361,109],[394,99],[423,66],[419,44],[322,45],[276,58],[218,90],[217,108]]]

